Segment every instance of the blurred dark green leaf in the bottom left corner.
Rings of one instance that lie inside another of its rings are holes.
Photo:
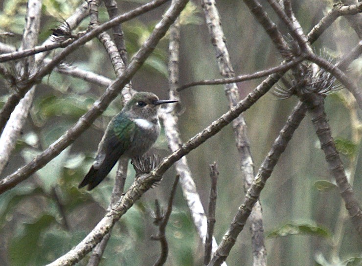
[[[53,216],[43,215],[36,222],[24,224],[23,230],[10,241],[9,259],[12,266],[35,265],[40,236],[53,222],[55,222]]]

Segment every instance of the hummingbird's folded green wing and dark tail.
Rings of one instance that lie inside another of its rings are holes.
[[[112,170],[121,155],[125,153],[136,132],[136,124],[127,118],[114,118],[102,138],[97,156],[79,188],[88,184],[88,190],[96,187]]]

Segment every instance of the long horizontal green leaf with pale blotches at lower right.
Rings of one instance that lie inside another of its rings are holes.
[[[331,237],[331,233],[327,229],[309,223],[302,223],[302,224],[286,223],[280,228],[271,231],[267,237],[275,238],[275,237],[284,237],[289,235],[311,235],[323,238]]]

